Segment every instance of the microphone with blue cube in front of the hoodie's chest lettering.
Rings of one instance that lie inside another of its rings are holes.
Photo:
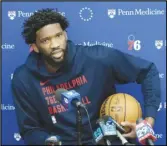
[[[66,108],[72,108],[71,105],[77,108],[85,108],[81,103],[81,95],[75,90],[66,90],[63,88],[57,89],[55,92],[56,99]],[[71,103],[71,104],[69,104]]]

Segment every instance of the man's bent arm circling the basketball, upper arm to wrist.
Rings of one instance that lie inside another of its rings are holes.
[[[159,72],[154,63],[114,50],[112,68],[118,83],[141,84],[144,118],[153,126],[161,101]]]

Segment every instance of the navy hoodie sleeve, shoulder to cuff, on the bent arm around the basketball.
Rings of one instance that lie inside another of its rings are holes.
[[[115,83],[141,84],[144,95],[144,116],[155,119],[161,96],[159,72],[153,62],[103,46],[86,49],[86,54],[96,60],[100,59],[104,65],[112,69]]]

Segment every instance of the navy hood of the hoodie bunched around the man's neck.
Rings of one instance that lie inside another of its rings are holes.
[[[44,60],[39,53],[32,51],[26,62],[26,67],[34,74],[42,77],[53,77],[58,76],[64,71],[69,71],[72,67],[72,63],[76,54],[76,46],[75,44],[68,40],[67,41],[67,52],[65,54],[65,60],[60,67],[60,69],[56,73],[49,73],[44,64]]]

